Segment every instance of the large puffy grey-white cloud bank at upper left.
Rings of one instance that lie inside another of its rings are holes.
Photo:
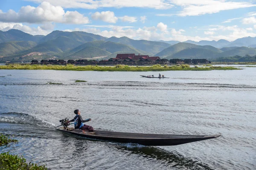
[[[89,19],[77,11],[67,11],[65,13],[61,6],[52,6],[48,2],[42,2],[38,7],[23,6],[17,13],[10,9],[6,13],[0,10],[0,21],[6,23],[71,23],[86,24]]]

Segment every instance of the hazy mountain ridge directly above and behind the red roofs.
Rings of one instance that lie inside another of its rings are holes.
[[[128,37],[111,37],[106,39],[105,41],[118,42],[121,44],[129,45],[134,48],[140,49],[142,51],[147,51],[148,54],[156,54],[163,49],[170,46],[170,44],[166,42],[157,42],[157,41],[147,41],[147,40],[132,40]]]

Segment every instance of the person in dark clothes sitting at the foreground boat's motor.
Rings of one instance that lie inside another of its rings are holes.
[[[75,124],[74,124],[75,129],[81,129],[83,133],[85,133],[84,130],[88,130],[89,132],[92,132],[93,127],[84,124],[84,122],[89,122],[89,121],[91,121],[91,119],[83,120],[82,116],[80,115],[81,113],[78,109],[76,109],[74,111],[74,113],[76,114],[76,116],[74,117],[74,119],[70,120],[69,122],[75,122]]]

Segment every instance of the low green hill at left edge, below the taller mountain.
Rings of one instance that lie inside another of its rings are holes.
[[[28,50],[37,45],[33,41],[12,41],[0,43],[0,56],[10,56],[20,51]]]

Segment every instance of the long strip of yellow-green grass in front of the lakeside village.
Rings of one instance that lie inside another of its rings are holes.
[[[115,66],[98,66],[98,65],[20,65],[9,64],[0,65],[0,70],[65,70],[65,71],[210,71],[210,70],[241,70],[230,66],[207,66],[198,67],[197,65],[190,67],[188,64],[161,66],[159,64],[152,66],[128,66],[128,65],[115,65]]]

